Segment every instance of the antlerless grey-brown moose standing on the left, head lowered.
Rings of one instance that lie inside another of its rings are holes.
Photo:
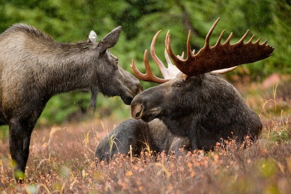
[[[140,82],[118,65],[109,52],[121,27],[99,43],[95,32],[88,41],[59,43],[32,26],[16,24],[0,34],[0,124],[9,125],[9,148],[16,162],[16,181],[24,178],[32,129],[53,95],[73,90],[120,96],[125,104],[142,91]]]

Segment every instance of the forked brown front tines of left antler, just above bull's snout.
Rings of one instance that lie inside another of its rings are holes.
[[[150,81],[150,82],[156,82],[156,83],[165,83],[167,81],[170,81],[170,80],[158,78],[152,73],[152,70],[151,70],[149,63],[148,63],[148,60],[147,60],[147,50],[145,50],[145,54],[144,54],[144,63],[145,63],[145,67],[146,67],[146,74],[141,73],[136,68],[134,60],[132,59],[130,66],[131,66],[131,69],[132,69],[135,77],[137,77],[138,79],[143,80],[143,81]]]

